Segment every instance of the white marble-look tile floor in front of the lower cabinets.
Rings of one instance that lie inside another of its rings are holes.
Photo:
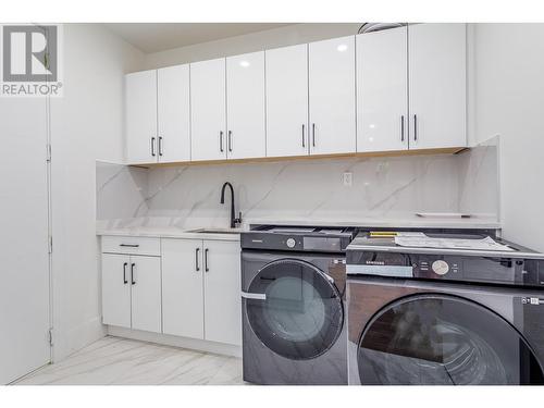
[[[16,385],[242,385],[242,359],[107,336]]]

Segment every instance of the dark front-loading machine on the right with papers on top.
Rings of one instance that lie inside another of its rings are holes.
[[[508,249],[355,238],[349,384],[544,384],[544,256],[500,244]]]

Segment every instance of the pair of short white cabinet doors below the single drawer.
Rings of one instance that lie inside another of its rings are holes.
[[[161,332],[159,257],[102,254],[102,322]]]

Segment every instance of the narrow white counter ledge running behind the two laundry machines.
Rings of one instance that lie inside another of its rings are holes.
[[[244,220],[248,225],[317,225],[317,226],[360,226],[360,227],[419,227],[419,228],[500,228],[500,223],[491,218],[349,218],[349,219],[289,219],[289,218],[248,218]]]

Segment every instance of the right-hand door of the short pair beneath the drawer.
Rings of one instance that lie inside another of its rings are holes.
[[[132,327],[161,332],[161,259],[131,257]]]

